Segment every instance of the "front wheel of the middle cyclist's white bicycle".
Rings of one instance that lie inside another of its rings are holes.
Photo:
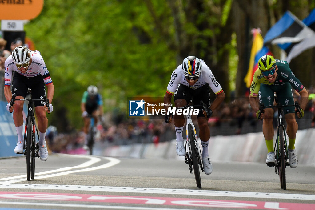
[[[200,178],[200,171],[199,171],[199,164],[198,164],[198,151],[197,151],[197,139],[195,136],[195,132],[192,128],[192,125],[188,125],[188,133],[189,133],[189,149],[191,152],[191,159],[192,159],[192,166],[194,169],[196,184],[199,189],[201,189],[201,178]]]

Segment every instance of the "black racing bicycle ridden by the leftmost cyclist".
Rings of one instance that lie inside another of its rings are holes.
[[[28,93],[31,95],[31,89],[28,89]],[[9,109],[12,107],[14,101],[28,101],[28,113],[25,121],[25,132],[24,132],[24,145],[23,150],[24,152],[22,154],[26,157],[26,175],[27,175],[27,181],[30,181],[30,179],[34,179],[35,174],[35,158],[39,157],[38,151],[39,146],[38,142],[36,143],[36,135],[35,130],[37,133],[37,138],[39,139],[39,133],[38,128],[35,123],[35,117],[34,117],[34,101],[40,101],[44,102],[49,110],[49,100],[45,96],[41,96],[40,99],[32,99],[32,98],[20,98],[15,99],[16,95],[15,93],[12,94],[11,102]]]

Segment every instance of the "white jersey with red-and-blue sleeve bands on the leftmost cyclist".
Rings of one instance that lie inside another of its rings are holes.
[[[49,71],[47,70],[46,64],[43,60],[42,55],[38,50],[32,51],[31,53],[31,59],[32,63],[29,65],[27,71],[25,73],[22,73],[14,64],[12,55],[10,55],[4,62],[4,85],[5,86],[11,86],[12,83],[12,71],[15,71],[23,76],[26,77],[35,77],[37,75],[42,75],[43,80],[46,85],[49,83],[52,83],[52,80],[49,75]]]

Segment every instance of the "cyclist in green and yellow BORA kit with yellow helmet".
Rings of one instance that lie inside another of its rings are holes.
[[[254,73],[253,81],[250,87],[249,103],[251,108],[256,112],[256,117],[260,120],[264,119],[262,131],[266,140],[268,149],[266,164],[275,166],[275,153],[273,149],[274,130],[272,125],[273,113],[272,108],[259,110],[259,104],[264,106],[273,106],[274,93],[278,96],[278,103],[281,105],[294,104],[292,89],[295,89],[301,96],[301,115],[297,113],[299,118],[304,116],[304,111],[308,92],[299,79],[295,77],[291,71],[287,61],[275,60],[271,55],[264,55],[258,61],[258,69]],[[257,100],[259,96],[259,102]],[[287,123],[287,135],[289,137],[289,165],[295,168],[298,160],[295,151],[295,135],[298,130],[298,124],[295,120],[295,106],[284,108],[284,117]],[[260,117],[259,117],[260,116]]]

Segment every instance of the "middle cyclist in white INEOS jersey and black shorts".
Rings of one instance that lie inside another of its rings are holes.
[[[213,103],[210,103],[210,91],[216,94],[216,98]],[[164,104],[170,104],[171,98],[174,95],[174,103],[176,107],[186,106],[190,100],[194,101],[194,105],[198,105],[202,100],[208,104],[209,113],[220,106],[225,98],[225,93],[222,90],[221,85],[216,81],[210,68],[206,63],[195,57],[188,56],[184,59],[183,63],[179,65],[171,75],[169,85],[167,86],[166,93],[164,95]],[[165,106],[167,110],[168,107]],[[208,144],[210,138],[210,129],[208,126],[208,120],[210,116],[206,116],[204,112],[199,112],[197,115],[199,126],[199,137],[203,146],[202,151],[202,163],[203,169],[206,174],[212,172],[212,165],[208,154]],[[165,117],[166,123],[172,122],[172,116]],[[176,130],[176,153],[179,156],[186,154],[184,147],[184,139],[182,131],[185,124],[184,115],[174,116],[174,125]]]

